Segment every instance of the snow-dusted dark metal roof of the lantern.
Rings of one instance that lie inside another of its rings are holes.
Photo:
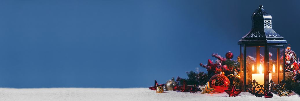
[[[252,14],[252,29],[238,41],[238,44],[285,44],[286,40],[272,29],[272,16],[265,12],[262,5]]]

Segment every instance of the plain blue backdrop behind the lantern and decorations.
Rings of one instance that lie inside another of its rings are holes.
[[[0,87],[149,87],[186,78],[211,53],[238,56],[259,4],[297,53],[299,3],[1,0]]]

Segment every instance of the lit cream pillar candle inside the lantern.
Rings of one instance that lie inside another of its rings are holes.
[[[272,74],[269,74],[270,79],[272,79]],[[252,80],[255,79],[255,81],[259,85],[265,84],[265,74],[262,73],[262,65],[259,65],[259,74],[252,74]]]

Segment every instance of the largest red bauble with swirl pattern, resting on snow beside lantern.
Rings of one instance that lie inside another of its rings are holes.
[[[218,92],[218,93],[224,92],[230,86],[230,81],[224,75],[224,72],[212,76],[208,82],[210,82],[211,88],[215,89],[213,92]]]

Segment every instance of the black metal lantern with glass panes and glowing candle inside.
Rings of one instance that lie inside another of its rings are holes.
[[[252,15],[252,29],[238,41],[241,51],[241,89],[255,96],[284,80],[286,40],[272,29],[272,16],[260,5]]]

